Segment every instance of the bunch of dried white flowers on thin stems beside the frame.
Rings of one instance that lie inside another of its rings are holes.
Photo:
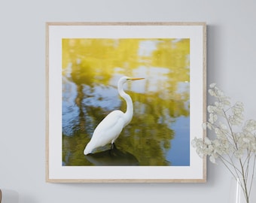
[[[246,177],[242,188],[245,196],[248,196],[248,176],[254,177],[256,165],[256,120],[244,122],[242,102],[236,102],[232,106],[230,98],[218,89],[216,83],[209,87],[209,95],[215,97],[216,101],[207,107],[208,122],[202,126],[203,129],[215,132],[216,138],[194,138],[191,144],[200,157],[209,156],[213,163],[219,159],[234,177],[241,177],[242,180]],[[241,131],[237,132],[239,128]],[[249,165],[252,165],[251,171]]]

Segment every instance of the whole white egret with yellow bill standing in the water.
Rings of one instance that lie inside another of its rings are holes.
[[[84,155],[92,153],[96,147],[103,147],[109,143],[111,143],[112,146],[114,145],[114,141],[118,138],[120,132],[130,123],[133,118],[133,101],[130,95],[123,91],[123,84],[128,81],[142,79],[144,78],[123,76],[118,80],[118,92],[119,95],[126,101],[126,112],[123,113],[119,110],[112,111],[107,117],[105,117],[105,119],[102,120],[101,123],[99,123],[93,132],[90,142],[84,149]]]

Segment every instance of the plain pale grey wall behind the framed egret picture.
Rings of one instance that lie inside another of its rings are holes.
[[[20,203],[227,202],[230,174],[208,165],[207,183],[45,183],[45,22],[203,21],[208,83],[256,119],[254,0],[44,0],[0,2],[0,188]]]

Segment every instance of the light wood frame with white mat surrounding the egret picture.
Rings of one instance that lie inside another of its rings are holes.
[[[194,108],[191,104],[190,108],[193,108],[193,111],[197,111],[196,113],[194,112],[197,116],[190,117],[190,128],[191,125],[194,125],[193,129],[190,129],[190,141],[194,136],[197,136],[197,138],[206,137],[206,131],[201,128],[201,124],[206,121],[206,23],[46,23],[46,181],[53,183],[206,182],[206,159],[200,159],[193,147],[190,147],[190,166],[183,168],[175,168],[172,166],[136,166],[135,168],[131,166],[93,166],[93,174],[88,176],[84,174],[88,174],[88,172],[92,173],[92,167],[90,166],[77,166],[76,168],[62,166],[62,160],[59,160],[59,150],[61,150],[59,149],[59,138],[55,139],[56,136],[62,136],[61,129],[57,129],[59,128],[59,123],[61,123],[61,114],[55,117],[53,114],[55,114],[56,111],[52,112],[56,106],[61,105],[59,104],[59,101],[61,101],[61,98],[59,98],[59,96],[61,97],[61,89],[59,89],[59,92],[53,91],[53,87],[56,86],[56,83],[59,82],[61,77],[61,74],[58,75],[61,72],[55,70],[55,68],[61,68],[59,67],[61,66],[61,56],[59,56],[59,53],[56,54],[55,51],[61,50],[61,47],[59,47],[61,46],[61,38],[69,38],[70,36],[73,38],[81,38],[81,35],[83,35],[81,32],[84,33],[87,29],[90,30],[94,27],[102,29],[103,34],[101,34],[101,36],[104,37],[106,26],[108,26],[108,28],[115,27],[117,29],[126,28],[126,32],[128,33],[133,32],[133,29],[136,29],[137,32],[139,28],[139,32],[145,33],[145,38],[151,38],[152,35],[158,38],[168,38],[169,35],[166,34],[166,32],[172,31],[178,33],[176,38],[191,38],[190,57],[197,58],[193,59],[194,64],[191,64],[191,68],[193,68],[193,70],[191,70],[193,71],[191,77],[194,77],[193,88],[197,89],[192,89],[195,93],[194,98],[197,98],[197,101],[193,102],[193,104],[197,104],[197,107]],[[145,29],[145,32],[143,29]],[[159,36],[146,33],[146,30],[153,31],[153,29],[157,30]],[[90,30],[90,32],[93,32],[93,29]],[[134,33],[129,36],[133,35]],[[175,36],[175,34],[170,36],[170,38],[173,38],[173,36]],[[100,37],[99,33],[97,37]],[[84,38],[87,38],[87,36]],[[138,38],[138,35],[136,35],[136,38]],[[55,134],[55,132],[58,133]],[[88,171],[89,168],[90,170]],[[173,171],[174,168],[175,171]],[[111,169],[117,171],[117,173],[121,170],[128,175],[116,175],[111,174],[111,172],[108,174]],[[175,173],[175,175],[172,175],[173,173]]]

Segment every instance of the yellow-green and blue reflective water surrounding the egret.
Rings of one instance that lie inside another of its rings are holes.
[[[189,117],[189,50],[189,39],[63,39],[63,165],[172,165],[166,159],[172,139],[189,140],[172,129],[178,117]],[[117,94],[123,75],[146,78],[125,88],[133,120],[110,159],[99,159],[108,156],[100,153],[92,160],[83,152],[97,124],[115,109],[126,111]]]

